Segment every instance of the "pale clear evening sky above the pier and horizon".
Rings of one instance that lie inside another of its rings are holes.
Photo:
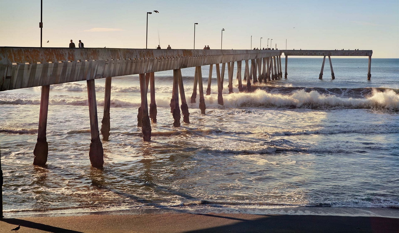
[[[193,49],[198,23],[196,49],[220,49],[224,28],[223,49],[267,47],[269,38],[279,49],[287,41],[287,49],[399,58],[399,0],[43,0],[43,47],[81,39],[85,47],[145,48],[146,12],[148,48]],[[40,0],[0,0],[0,46],[40,47],[39,22]]]

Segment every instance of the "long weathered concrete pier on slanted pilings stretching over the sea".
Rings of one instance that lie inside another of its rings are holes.
[[[337,51],[337,50],[203,50],[203,49],[117,49],[117,48],[36,48],[36,47],[0,47],[0,91],[42,87],[38,139],[34,149],[34,164],[44,165],[47,162],[48,144],[46,139],[47,110],[50,85],[87,81],[91,144],[89,158],[93,167],[103,167],[103,140],[110,136],[110,101],[112,77],[138,74],[140,79],[141,106],[138,109],[138,126],[142,127],[144,141],[151,140],[151,124],[156,122],[156,102],[154,76],[155,72],[173,70],[173,91],[170,101],[174,127],[180,126],[181,113],[183,121],[190,123],[189,109],[184,93],[181,69],[196,67],[194,88],[191,103],[196,102],[197,86],[199,89],[199,108],[205,114],[205,101],[202,87],[201,66],[209,65],[206,95],[210,95],[212,69],[215,64],[217,76],[217,101],[223,105],[223,80],[227,63],[229,93],[233,93],[234,67],[237,63],[236,79],[238,89],[243,91],[241,80],[242,61],[245,61],[244,81],[247,91],[252,83],[267,83],[282,78],[281,55],[285,55],[285,73],[287,78],[287,61],[290,56],[368,56],[368,79],[371,78],[371,50]],[[249,66],[251,60],[251,66]],[[220,66],[221,64],[221,66]],[[263,65],[263,67],[262,67]],[[102,126],[99,130],[95,79],[105,78],[105,97]],[[150,86],[150,107],[148,109],[147,92]],[[180,101],[179,104],[179,94]],[[179,106],[180,105],[180,106]],[[180,108],[182,109],[180,111]]]

